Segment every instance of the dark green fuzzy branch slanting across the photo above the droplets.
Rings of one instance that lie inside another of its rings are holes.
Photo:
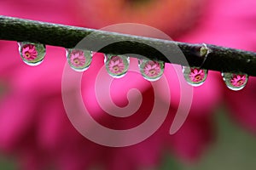
[[[256,53],[253,52],[0,16],[0,39],[2,40],[40,42],[46,45],[74,48],[84,37],[89,35],[90,43],[84,44],[80,48],[105,54],[140,54],[148,59],[187,65],[179,57],[178,50],[180,49],[190,66],[201,66],[201,68],[212,71],[247,73],[249,76],[256,77]],[[96,49],[105,42],[113,43]],[[172,57],[166,57],[166,54],[170,54]],[[207,54],[206,59],[204,58],[205,54]],[[134,56],[140,58],[138,55]]]

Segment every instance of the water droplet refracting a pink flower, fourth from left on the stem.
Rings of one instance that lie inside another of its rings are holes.
[[[159,80],[165,70],[165,63],[163,61],[138,59],[138,65],[143,77],[150,82]]]

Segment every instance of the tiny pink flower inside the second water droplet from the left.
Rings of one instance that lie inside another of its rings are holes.
[[[70,54],[70,62],[75,67],[81,67],[85,65],[84,52],[81,50],[73,50]]]

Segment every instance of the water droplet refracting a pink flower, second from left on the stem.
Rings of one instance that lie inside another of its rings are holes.
[[[74,71],[86,71],[91,63],[92,52],[80,49],[66,49],[68,65]]]

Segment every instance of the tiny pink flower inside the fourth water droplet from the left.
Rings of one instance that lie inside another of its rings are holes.
[[[148,61],[143,71],[148,77],[157,77],[160,74],[160,64],[156,61]]]

